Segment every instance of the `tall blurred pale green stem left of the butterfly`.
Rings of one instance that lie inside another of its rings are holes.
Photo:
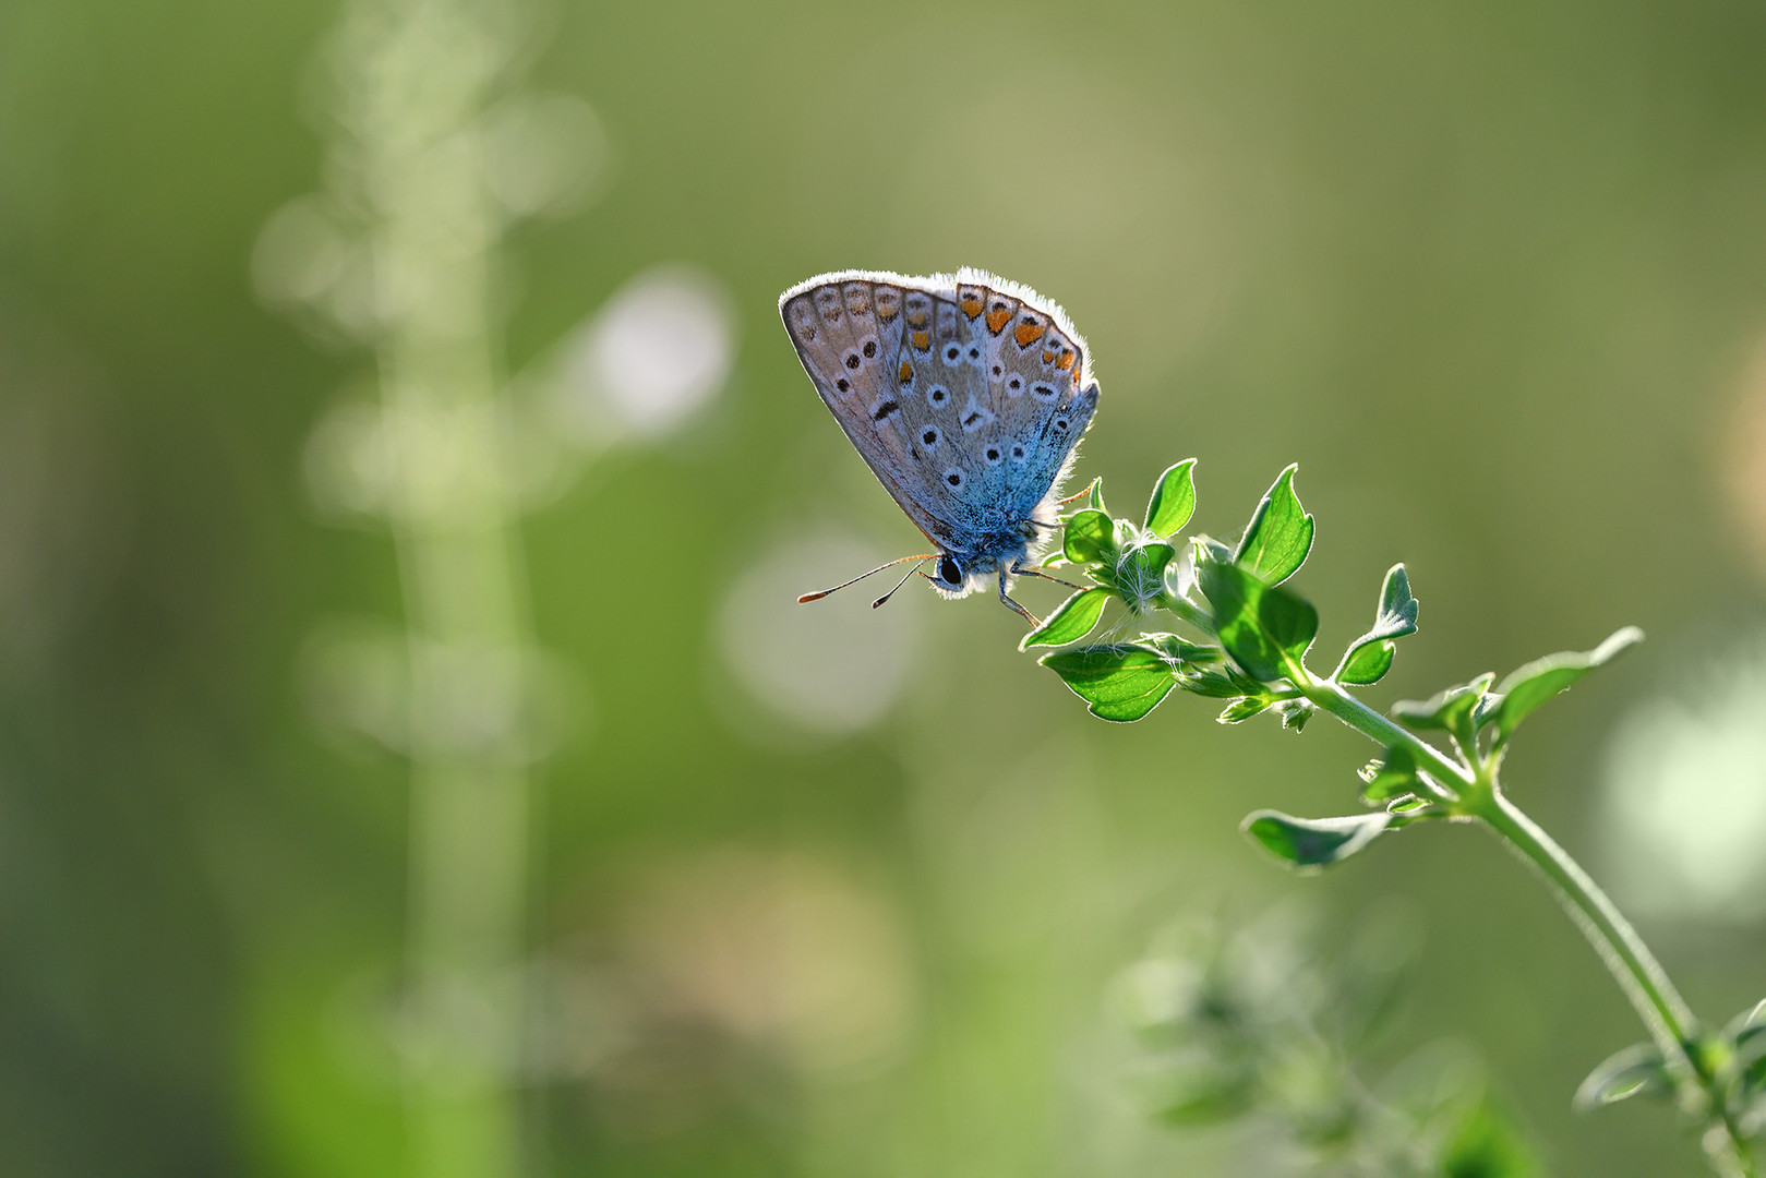
[[[512,1069],[525,1021],[532,782],[519,668],[530,620],[496,431],[502,223],[477,131],[496,72],[420,69],[431,44],[484,55],[463,58],[472,64],[502,60],[503,46],[468,2],[371,7],[346,124],[385,327],[376,360],[410,652],[410,1173],[512,1178],[523,1169]]]

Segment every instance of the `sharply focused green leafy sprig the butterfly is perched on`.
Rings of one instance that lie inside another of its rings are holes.
[[[1748,1141],[1766,1132],[1766,1001],[1722,1030],[1704,1028],[1667,973],[1605,892],[1503,791],[1499,774],[1522,721],[1589,671],[1642,639],[1625,627],[1588,652],[1547,655],[1501,682],[1478,675],[1381,714],[1353,689],[1377,683],[1397,641],[1416,632],[1418,602],[1404,565],[1385,578],[1374,623],[1351,641],[1335,669],[1309,666],[1317,609],[1289,586],[1312,551],[1316,523],[1294,493],[1294,466],[1259,500],[1236,544],[1206,535],[1176,540],[1196,509],[1196,459],[1166,470],[1141,523],[1111,517],[1102,482],[1065,517],[1060,562],[1093,581],[1028,634],[1023,650],[1060,646],[1042,666],[1061,676],[1093,715],[1146,717],[1173,691],[1222,701],[1222,724],[1273,714],[1300,731],[1328,712],[1374,740],[1381,752],[1360,770],[1362,812],[1294,818],[1261,809],[1243,832],[1279,862],[1323,871],[1404,827],[1457,819],[1485,825],[1552,887],[1637,1010],[1649,1040],[1596,1067],[1579,1107],[1662,1093],[1702,1123],[1706,1159],[1725,1178],[1755,1178]],[[1180,547],[1183,556],[1180,558]],[[1201,641],[1144,631],[1127,641],[1077,646],[1116,599],[1132,618],[1158,609]],[[1445,736],[1439,745],[1432,738]]]

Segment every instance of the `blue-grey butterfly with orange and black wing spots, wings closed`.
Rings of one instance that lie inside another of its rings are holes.
[[[1054,532],[1060,484],[1091,424],[1098,387],[1067,313],[984,270],[904,277],[839,270],[779,297],[779,314],[816,392],[883,489],[938,551],[915,562],[872,608],[929,560],[927,579],[964,597],[998,576],[1042,576],[1035,555]],[[1075,496],[1077,498],[1077,496]],[[1056,579],[1056,578],[1047,578]]]

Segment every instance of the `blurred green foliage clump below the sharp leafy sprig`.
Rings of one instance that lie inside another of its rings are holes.
[[[1245,1174],[1538,1174],[1464,1049],[1418,1047],[1367,1074],[1404,1005],[1416,948],[1406,913],[1365,917],[1335,952],[1310,940],[1277,910],[1231,933],[1166,934],[1116,978],[1150,1111],[1231,1127]]]

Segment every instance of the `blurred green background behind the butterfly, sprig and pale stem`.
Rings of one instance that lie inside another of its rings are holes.
[[[0,7],[9,1174],[433,1173],[420,814],[376,729],[419,705],[374,652],[434,530],[350,500],[327,422],[374,403],[376,339],[291,293],[348,270],[298,270],[336,242],[286,212],[374,132],[314,65],[346,19]],[[775,298],[977,265],[1060,300],[1116,510],[1199,456],[1196,526],[1233,535],[1298,461],[1332,645],[1408,562],[1376,703],[1642,625],[1508,779],[1720,1021],[1766,994],[1766,9],[560,0],[512,35],[487,102],[586,106],[510,122],[489,182],[544,189],[556,148],[574,203],[431,245],[487,263],[489,351],[532,374],[498,404],[599,422],[528,429],[544,477],[487,525],[555,742],[505,782],[528,1030],[480,1069],[528,1173],[1268,1173],[1146,1123],[1107,982],[1173,920],[1303,901],[1330,940],[1383,897],[1425,929],[1393,1053],[1471,1044],[1554,1173],[1695,1173],[1665,1109],[1570,1113],[1641,1033],[1491,839],[1296,880],[1236,834],[1353,809],[1358,738],[1187,698],[1106,726],[984,599],[791,604],[917,533]]]

